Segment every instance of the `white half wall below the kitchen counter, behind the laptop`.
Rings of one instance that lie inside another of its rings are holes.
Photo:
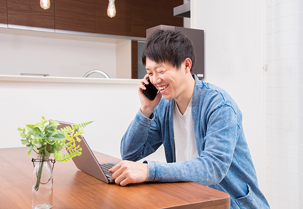
[[[43,79],[43,78],[41,78]],[[138,84],[0,81],[0,148],[22,147],[18,127],[41,116],[84,128],[91,149],[118,158],[120,141],[139,109]]]

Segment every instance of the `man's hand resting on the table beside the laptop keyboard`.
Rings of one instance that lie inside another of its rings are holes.
[[[145,182],[148,175],[148,164],[124,160],[109,171],[113,173],[116,184],[125,186],[129,183]]]

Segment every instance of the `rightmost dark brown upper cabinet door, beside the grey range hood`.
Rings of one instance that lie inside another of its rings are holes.
[[[174,16],[174,7],[183,5],[183,0],[159,0],[159,25],[183,27],[183,18]]]

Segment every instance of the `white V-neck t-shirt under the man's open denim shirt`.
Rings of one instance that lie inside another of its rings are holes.
[[[175,101],[173,117],[176,162],[182,162],[199,157],[194,137],[191,100],[183,115],[179,111],[178,105]]]

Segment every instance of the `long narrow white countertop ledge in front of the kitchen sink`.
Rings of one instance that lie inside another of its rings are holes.
[[[139,79],[104,79],[104,78],[78,78],[78,77],[40,77],[40,76],[10,76],[0,75],[0,82],[26,82],[26,83],[87,83],[87,84],[130,84],[139,85]]]

